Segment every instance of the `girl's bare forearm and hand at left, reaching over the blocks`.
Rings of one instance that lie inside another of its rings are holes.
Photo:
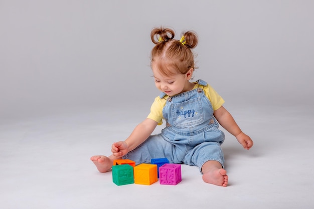
[[[121,157],[135,149],[138,145],[143,143],[148,136],[150,136],[157,124],[156,121],[146,118],[134,128],[131,135],[125,141],[119,141],[112,144],[111,151],[113,155]]]

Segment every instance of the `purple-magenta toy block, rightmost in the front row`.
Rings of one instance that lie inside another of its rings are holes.
[[[182,180],[181,165],[166,163],[159,168],[160,184],[177,185]]]

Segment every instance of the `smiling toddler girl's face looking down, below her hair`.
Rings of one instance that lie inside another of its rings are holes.
[[[187,74],[175,74],[173,76],[165,76],[161,74],[159,69],[152,63],[151,65],[153,77],[155,79],[155,86],[160,91],[166,93],[168,96],[174,96],[180,94],[185,91],[189,91],[191,89],[189,84],[189,72]]]

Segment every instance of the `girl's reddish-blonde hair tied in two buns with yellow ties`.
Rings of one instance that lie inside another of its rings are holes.
[[[154,62],[166,76],[186,74],[191,68],[193,71],[196,69],[191,49],[197,46],[198,36],[192,31],[181,35],[181,40],[176,40],[174,30],[163,27],[150,32],[151,41],[155,44],[151,50],[151,64]]]

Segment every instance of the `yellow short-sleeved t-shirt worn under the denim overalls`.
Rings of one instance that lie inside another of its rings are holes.
[[[193,89],[196,89],[198,87],[199,85],[196,84]],[[209,84],[207,84],[207,86],[204,86],[203,91],[205,96],[211,102],[214,111],[218,110],[225,103],[224,99]],[[168,97],[168,95],[166,95],[164,98],[160,98],[159,96],[156,97],[150,107],[150,113],[147,118],[158,122],[158,125],[162,125],[163,119],[165,119],[163,118],[163,108],[166,105]]]

